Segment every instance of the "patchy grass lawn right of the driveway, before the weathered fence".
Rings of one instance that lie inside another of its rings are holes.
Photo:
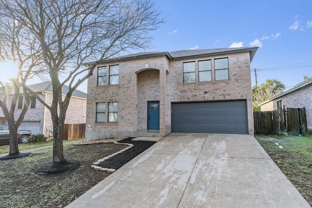
[[[254,137],[312,206],[312,136]]]

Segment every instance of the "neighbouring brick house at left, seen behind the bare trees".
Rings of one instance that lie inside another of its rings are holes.
[[[36,92],[37,95],[47,104],[52,103],[52,83],[50,81],[28,85],[28,87]],[[63,96],[65,96],[67,92],[68,86],[65,85],[62,88]],[[21,93],[15,109],[15,118],[20,116],[24,99],[25,97]],[[10,104],[11,101],[8,101],[7,103]],[[70,99],[66,112],[65,124],[84,124],[86,121],[86,103],[87,94],[79,90],[75,90]],[[5,121],[2,109],[0,109],[0,123],[4,125]],[[29,109],[27,110],[19,129],[27,129],[31,130],[33,134],[41,133],[49,136],[49,129],[52,130],[52,128],[50,111],[35,97],[32,97]]]

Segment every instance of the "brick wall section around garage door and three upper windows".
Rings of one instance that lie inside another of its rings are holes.
[[[229,58],[229,80],[215,81],[214,70],[212,71],[213,81],[198,82],[198,61]],[[195,61],[196,82],[183,83],[183,62]],[[167,106],[166,115],[171,116],[171,102],[192,102],[192,101],[225,101],[225,100],[247,100],[249,132],[254,133],[253,104],[251,90],[250,57],[249,52],[217,55],[200,59],[185,59],[172,61],[170,71],[167,75]],[[208,93],[204,93],[207,91]],[[169,101],[169,102],[168,102]],[[168,119],[166,125],[171,125]]]

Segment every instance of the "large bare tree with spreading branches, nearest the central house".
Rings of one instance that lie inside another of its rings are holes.
[[[63,125],[72,93],[93,73],[101,60],[145,49],[160,23],[152,0],[0,0],[0,15],[13,18],[41,46],[36,54],[48,70],[52,104],[23,86],[51,112],[53,163],[67,164],[63,154]],[[19,34],[23,36],[23,33]],[[83,63],[91,63],[83,68]],[[62,86],[69,91],[62,97]]]

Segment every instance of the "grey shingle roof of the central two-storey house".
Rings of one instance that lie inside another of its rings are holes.
[[[141,52],[135,54],[129,54],[125,56],[119,56],[115,58],[110,58],[107,60],[103,60],[99,63],[105,62],[113,62],[113,61],[123,61],[123,60],[131,60],[137,58],[148,58],[148,57],[155,57],[155,56],[167,56],[170,60],[179,60],[179,59],[186,59],[186,58],[196,58],[196,57],[203,57],[203,56],[213,56],[219,54],[228,54],[228,53],[238,53],[238,52],[245,52],[249,51],[250,54],[250,62],[252,62],[254,55],[258,47],[241,47],[241,48],[216,48],[216,49],[200,49],[200,50],[181,50],[181,51],[173,51],[173,52]],[[92,63],[86,63],[85,65],[90,65]]]

